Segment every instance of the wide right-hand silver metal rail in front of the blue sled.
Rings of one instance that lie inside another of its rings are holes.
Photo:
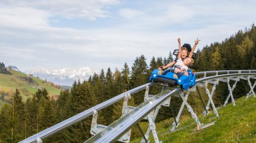
[[[140,106],[126,114],[125,116],[119,118],[117,121],[112,123],[110,126],[105,128],[103,131],[93,136],[86,142],[114,142],[127,132],[133,125],[136,125],[139,121],[144,118],[149,112],[157,108],[163,101],[168,99],[171,95],[175,95],[181,91],[181,88],[174,89],[173,91],[168,91],[167,93],[158,94],[151,99],[144,101]]]

